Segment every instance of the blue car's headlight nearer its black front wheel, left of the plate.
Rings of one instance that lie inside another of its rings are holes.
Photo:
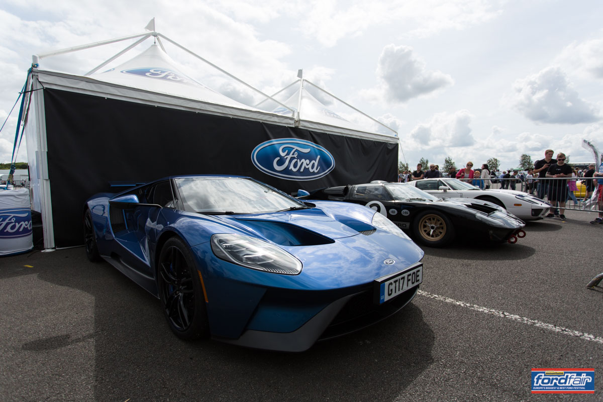
[[[245,268],[297,275],[301,262],[282,248],[241,234],[214,234],[212,251],[218,258]]]

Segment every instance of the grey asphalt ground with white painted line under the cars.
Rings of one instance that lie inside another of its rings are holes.
[[[602,401],[603,225],[566,215],[426,248],[405,309],[299,354],[180,341],[83,248],[3,257],[0,401]],[[595,394],[531,394],[532,368],[594,368]]]

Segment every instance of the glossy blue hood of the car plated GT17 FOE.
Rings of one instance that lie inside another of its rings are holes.
[[[373,227],[374,210],[334,201],[316,204],[320,207],[220,215],[218,219],[242,233],[277,243],[301,261],[303,270],[295,275],[294,282],[289,275],[271,277],[279,287],[320,290],[357,286],[403,271],[423,259],[423,250],[402,231],[396,235]],[[265,272],[248,269],[240,275],[261,283]]]

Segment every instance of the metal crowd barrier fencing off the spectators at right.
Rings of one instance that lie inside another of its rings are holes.
[[[565,209],[587,212],[602,212],[597,203],[598,177],[575,178],[539,178],[533,177],[525,180],[520,178],[476,178],[469,180],[481,188],[517,190],[532,194],[549,204],[558,204],[564,201]],[[467,181],[467,180],[463,180]],[[575,181],[576,190],[569,190],[569,182]],[[563,200],[561,199],[563,198]],[[553,202],[555,200],[555,203]]]

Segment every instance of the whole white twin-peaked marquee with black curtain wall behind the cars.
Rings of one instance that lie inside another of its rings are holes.
[[[395,132],[390,130],[391,135],[374,133],[356,127],[335,113],[325,113],[327,108],[309,93],[301,92],[298,96],[301,104],[289,104],[291,99],[283,102],[268,96],[157,33],[154,25],[147,28],[144,33],[33,56],[33,68],[25,84],[21,123],[27,138],[32,204],[34,210],[42,213],[46,248],[77,244],[75,238],[81,238],[78,237],[81,216],[74,211],[83,205],[87,196],[107,190],[106,183],[116,177],[151,180],[202,169],[203,172],[253,175],[283,190],[294,186],[303,188],[299,183],[264,177],[251,166],[248,149],[253,149],[262,136],[269,139],[299,137],[332,144],[329,146],[333,156],[343,163],[341,173],[335,169],[322,181],[304,182],[304,185],[326,186],[352,181],[349,178],[352,174],[356,174],[358,180],[394,174],[399,144]],[[116,59],[147,39],[154,41],[147,50],[111,68],[110,64]],[[84,75],[53,71],[43,64],[47,57],[132,40],[136,41]],[[162,40],[269,99],[278,113],[242,104],[191,78],[166,54]],[[103,70],[106,68],[109,69]],[[166,132],[174,139],[169,146],[162,143]],[[232,139],[229,136],[233,136]],[[374,145],[371,151],[374,154],[358,154],[358,149],[362,152],[370,149],[365,143],[352,151],[350,146],[356,145],[337,141],[341,136],[367,141]],[[239,152],[247,155],[237,163],[224,164],[224,158],[216,159],[215,151],[205,149],[209,139],[218,143],[227,141],[224,146],[236,143],[241,147]],[[165,166],[148,165],[144,155],[137,155],[141,141],[148,148],[146,152],[157,154],[154,157],[160,157]],[[178,146],[185,142],[189,142],[186,147]],[[174,148],[176,146],[178,148]],[[339,147],[341,149],[337,149]],[[173,150],[166,153],[166,149]],[[374,160],[380,159],[379,155],[387,168],[380,168],[378,174],[367,173],[367,169],[363,172],[360,168],[355,171],[359,163],[352,159]],[[353,163],[353,169],[343,169],[347,159]],[[206,164],[199,165],[200,160]],[[77,233],[69,234],[71,232]]]

